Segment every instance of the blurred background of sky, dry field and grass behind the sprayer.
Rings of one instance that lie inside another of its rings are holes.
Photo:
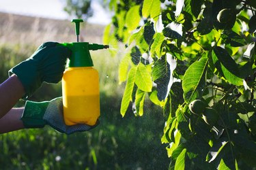
[[[74,1],[73,1],[74,2]],[[107,1],[90,1],[81,16],[81,40],[102,43],[111,22]],[[70,1],[0,0],[0,83],[8,70],[25,60],[45,41],[76,41]],[[119,113],[125,84],[118,84],[118,65],[125,51],[91,52],[100,74],[100,125],[88,132],[64,135],[45,126],[0,135],[1,169],[167,169],[169,159],[160,139],[165,119],[149,100],[145,114],[134,116],[131,106]],[[43,84],[29,100],[61,96],[61,83]],[[20,100],[16,107],[23,107]]]

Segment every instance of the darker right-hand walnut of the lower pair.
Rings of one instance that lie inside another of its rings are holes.
[[[213,126],[218,121],[218,113],[212,107],[206,107],[203,112],[203,120],[205,123]]]

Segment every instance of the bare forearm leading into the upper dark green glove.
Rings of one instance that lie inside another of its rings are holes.
[[[23,97],[24,93],[23,84],[16,75],[10,76],[8,80],[0,84],[0,120]]]

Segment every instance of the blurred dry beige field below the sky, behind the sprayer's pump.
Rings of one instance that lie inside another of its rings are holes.
[[[101,43],[104,26],[81,24],[81,41]],[[0,44],[33,44],[44,41],[76,41],[74,24],[70,20],[55,20],[20,16],[0,12]]]

